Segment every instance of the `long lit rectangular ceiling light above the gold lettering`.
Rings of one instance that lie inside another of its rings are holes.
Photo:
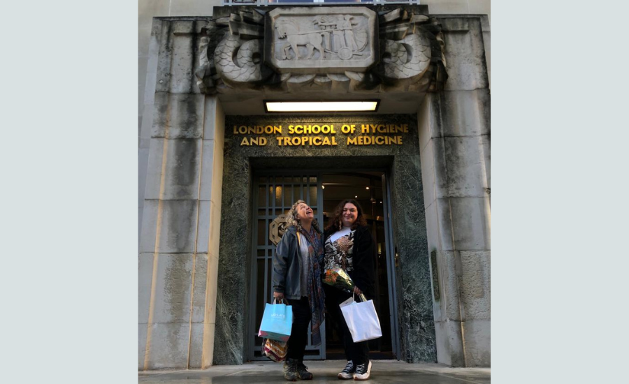
[[[266,112],[375,112],[380,101],[265,101]]]

